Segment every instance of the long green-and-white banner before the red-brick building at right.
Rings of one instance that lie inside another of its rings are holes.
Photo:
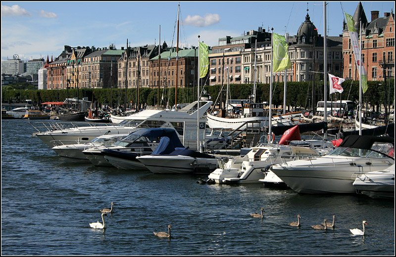
[[[350,43],[352,44],[353,55],[355,56],[356,67],[358,67],[357,70],[359,71],[359,73],[360,73],[359,66],[361,66],[360,80],[361,80],[362,90],[364,93],[364,92],[366,92],[366,90],[368,88],[367,73],[366,73],[366,70],[364,69],[364,66],[360,65],[361,64],[360,63],[360,47],[359,47],[357,32],[355,30],[355,22],[354,22],[352,16],[350,16],[349,14],[345,13],[345,17],[347,18]]]

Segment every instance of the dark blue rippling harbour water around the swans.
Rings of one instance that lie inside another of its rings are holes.
[[[395,255],[394,201],[68,164],[33,132],[1,121],[2,255]],[[110,202],[107,228],[90,228]],[[335,229],[310,227],[333,214]],[[362,220],[366,235],[352,236]],[[168,224],[170,240],[153,235]]]

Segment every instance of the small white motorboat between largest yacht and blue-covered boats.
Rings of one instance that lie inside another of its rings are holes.
[[[75,144],[65,144],[65,142],[59,142],[59,145],[52,147],[52,150],[55,151],[60,157],[66,158],[71,161],[90,161],[87,158],[87,155],[83,153],[84,150],[90,149],[91,147],[99,147],[99,146],[110,146],[115,142],[121,140],[128,134],[111,134],[111,135],[101,135],[95,137],[89,143],[75,143]],[[58,144],[54,142],[54,144]]]

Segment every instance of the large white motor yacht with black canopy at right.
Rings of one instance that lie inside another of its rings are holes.
[[[324,156],[283,162],[270,170],[297,193],[355,193],[353,182],[359,174],[395,164],[389,155],[394,145],[393,137],[349,135]]]

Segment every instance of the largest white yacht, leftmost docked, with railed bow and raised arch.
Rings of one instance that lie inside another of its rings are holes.
[[[212,104],[212,101],[199,101],[199,123],[204,124],[202,116]],[[128,116],[124,121],[116,126],[95,126],[95,124],[85,124],[85,127],[67,128],[50,123],[45,124],[30,123],[38,132],[34,133],[49,147],[53,147],[51,141],[80,141],[89,142],[99,135],[126,134],[141,128],[170,128],[175,129],[183,145],[192,149],[197,149],[197,105],[195,101],[188,106],[177,111],[166,110],[144,110]],[[47,131],[41,131],[42,129]],[[203,133],[202,136],[203,139]]]

